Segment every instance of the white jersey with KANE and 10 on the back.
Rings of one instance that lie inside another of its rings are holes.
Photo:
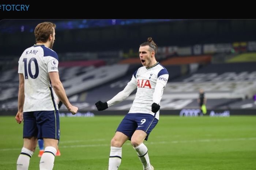
[[[58,55],[44,45],[27,48],[19,58],[18,73],[25,81],[23,112],[59,110],[48,72],[58,72]]]

